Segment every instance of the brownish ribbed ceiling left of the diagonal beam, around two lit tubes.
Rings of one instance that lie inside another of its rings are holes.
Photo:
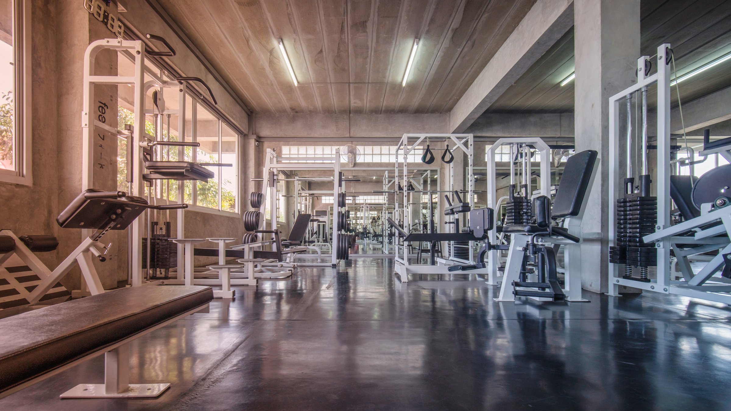
[[[289,114],[447,113],[536,0],[158,1],[254,113]]]

